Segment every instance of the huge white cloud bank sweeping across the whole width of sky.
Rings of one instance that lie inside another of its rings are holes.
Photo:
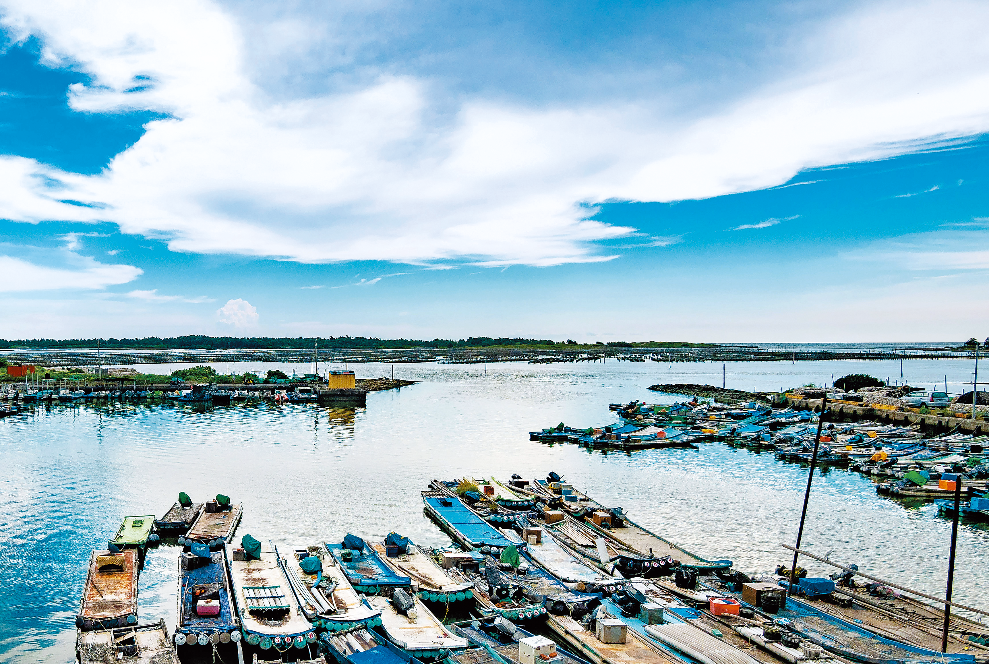
[[[676,113],[651,92],[614,103],[455,102],[433,80],[395,75],[276,99],[250,69],[238,18],[214,4],[6,4],[3,22],[38,36],[46,63],[91,74],[91,85],[71,87],[73,108],[173,119],[149,123],[99,175],[0,157],[0,218],[110,221],[179,251],[608,260],[595,243],[631,230],[589,221],[587,203],[771,187],[804,168],[989,131],[989,7],[978,2],[855,9],[794,36],[776,53],[787,71],[777,80]],[[298,18],[286,25],[304,25]]]

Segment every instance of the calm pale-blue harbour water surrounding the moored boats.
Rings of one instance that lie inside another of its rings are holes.
[[[266,365],[273,366],[273,365]],[[166,368],[166,367],[163,367]],[[226,365],[218,369],[227,370]],[[234,365],[237,371],[244,367]],[[248,367],[260,368],[260,367]],[[286,367],[288,368],[288,367]],[[298,365],[297,370],[305,368]],[[335,367],[334,367],[335,368]],[[351,365],[359,376],[387,365]],[[779,389],[820,383],[832,372],[898,377],[898,362],[735,363],[727,384]],[[700,555],[740,569],[789,561],[806,468],[719,443],[699,449],[591,452],[530,442],[526,431],[613,422],[607,404],[648,398],[654,383],[720,384],[720,364],[397,365],[422,382],[368,396],[367,407],[54,405],[0,421],[0,662],[69,662],[89,552],[129,515],[160,516],[179,491],[202,501],[218,492],[242,501],[238,534],[275,542],[377,538],[399,530],[424,544],[448,539],[422,515],[418,492],[457,475],[566,476]],[[961,360],[905,364],[912,384],[970,380]],[[967,375],[966,375],[967,374]],[[930,505],[875,495],[856,473],[815,479],[807,548],[944,592],[950,522]],[[985,606],[989,532],[959,531],[955,598]],[[823,566],[805,563],[812,574]],[[148,554],[141,620],[175,606],[176,549]]]

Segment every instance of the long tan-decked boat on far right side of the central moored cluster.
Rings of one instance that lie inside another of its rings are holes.
[[[549,483],[543,480],[534,480],[528,485],[527,489],[544,498],[559,498],[561,496],[561,494],[555,494]],[[674,560],[679,562],[679,566],[681,567],[691,567],[698,571],[728,569],[732,566],[731,560],[708,560],[707,558],[693,554],[685,548],[677,546],[669,539],[661,537],[644,525],[634,522],[621,508],[609,510],[580,490],[573,487],[570,490],[573,492],[573,495],[578,497],[576,505],[580,505],[581,507],[568,509],[567,502],[563,501],[561,502],[561,508],[567,509],[575,517],[583,518],[586,526],[598,533],[598,535],[609,538],[617,544],[638,553],[643,559],[649,560],[651,567],[653,567],[652,562],[658,562],[667,557],[674,558]],[[571,502],[571,505],[575,505],[575,503]],[[587,519],[587,517],[592,517],[595,512],[603,512],[610,515],[609,528],[603,528],[593,522],[592,519]]]

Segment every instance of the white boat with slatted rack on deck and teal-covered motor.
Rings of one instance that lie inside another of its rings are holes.
[[[241,538],[241,550],[227,544],[231,588],[243,638],[262,650],[303,649],[315,641],[307,619],[292,592],[282,560],[271,542],[250,535]]]

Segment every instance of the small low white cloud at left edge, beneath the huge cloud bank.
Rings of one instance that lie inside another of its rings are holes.
[[[68,265],[48,267],[14,256],[0,256],[0,292],[89,290],[133,281],[143,270],[134,265],[107,265],[66,252]]]

